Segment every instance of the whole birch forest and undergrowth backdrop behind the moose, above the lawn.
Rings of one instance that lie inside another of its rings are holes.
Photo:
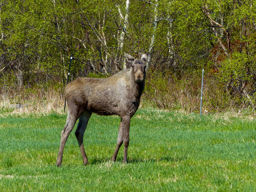
[[[255,114],[256,0],[1,0],[2,108],[64,106],[70,80],[148,55],[142,105]]]

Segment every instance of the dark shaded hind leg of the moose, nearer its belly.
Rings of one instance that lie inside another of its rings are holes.
[[[84,151],[84,144],[83,144],[83,138],[84,138],[84,131],[87,127],[88,121],[92,115],[92,112],[85,110],[81,116],[79,117],[79,122],[76,128],[76,139],[78,141],[78,145],[81,151],[81,155],[83,158],[84,165],[89,164],[86,153]]]

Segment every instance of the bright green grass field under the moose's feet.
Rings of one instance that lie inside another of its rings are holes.
[[[120,118],[92,115],[84,166],[74,135],[55,166],[67,115],[0,117],[0,191],[256,191],[255,121],[152,108],[132,118],[110,162]]]

